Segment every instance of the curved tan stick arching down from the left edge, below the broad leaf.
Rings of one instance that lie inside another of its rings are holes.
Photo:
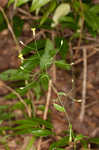
[[[26,111],[27,111],[28,115],[30,116],[30,112],[29,112],[29,110],[28,110],[28,106],[26,105],[26,103],[24,102],[24,100],[22,99],[22,97],[20,96],[20,94],[17,93],[15,90],[13,90],[13,89],[12,89],[11,87],[9,87],[8,85],[6,85],[5,83],[4,83],[4,86],[5,86],[5,88],[7,88],[9,91],[11,91],[13,94],[15,94],[15,95],[18,97],[18,99],[20,100],[20,102],[21,102],[22,104],[24,104],[24,106],[25,106],[25,108],[26,108]]]

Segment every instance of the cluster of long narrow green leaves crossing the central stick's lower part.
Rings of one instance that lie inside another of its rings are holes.
[[[37,117],[32,119],[17,120],[14,124],[17,124],[17,127],[12,128],[15,134],[31,133],[35,136],[48,136],[53,134],[50,130],[52,128],[51,123]],[[47,129],[39,128],[40,125],[44,125]]]

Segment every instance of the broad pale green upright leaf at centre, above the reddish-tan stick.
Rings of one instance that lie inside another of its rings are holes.
[[[52,64],[53,56],[56,54],[53,43],[47,39],[45,45],[45,52],[40,59],[40,68],[41,70],[47,69]]]

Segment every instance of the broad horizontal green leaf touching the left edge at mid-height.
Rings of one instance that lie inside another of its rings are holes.
[[[0,79],[4,81],[28,80],[29,74],[20,69],[9,69],[0,74]]]

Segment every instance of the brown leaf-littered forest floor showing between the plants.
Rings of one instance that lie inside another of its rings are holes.
[[[26,27],[28,25],[26,24]],[[32,38],[32,33],[30,29],[24,29],[19,40],[28,41]],[[39,31],[40,32],[40,31]],[[41,37],[39,37],[41,38]],[[98,37],[97,37],[98,39]],[[92,41],[91,44],[81,46],[86,46],[87,54],[94,52],[95,44],[99,42]],[[99,40],[98,40],[99,41]],[[90,45],[93,45],[92,47]],[[75,97],[73,101],[70,97],[62,97],[62,101],[67,110],[68,116],[71,120],[73,130],[76,133],[82,133],[83,135],[89,137],[99,137],[99,50],[94,53],[92,56],[87,58],[87,90],[86,90],[86,104],[85,104],[85,115],[83,122],[80,122],[80,114],[81,114],[81,104],[82,102],[78,102],[82,100],[82,85],[83,85],[83,56],[82,54],[78,54],[76,56],[77,64],[74,65],[74,75],[75,75],[75,87],[74,87],[74,95],[72,93],[71,97]],[[16,45],[8,31],[8,29],[3,30],[0,33],[0,72],[11,68],[18,68],[20,65],[18,54],[16,52]],[[72,73],[69,71],[64,71],[62,69],[56,69],[56,81],[55,87],[58,91],[63,91],[68,93],[72,88]],[[10,82],[7,82],[10,86]],[[8,94],[8,90],[2,86],[0,81],[0,105],[3,104],[12,104],[15,103],[16,100],[5,100],[3,98],[4,95]],[[55,94],[52,93],[53,99],[55,98]],[[36,100],[34,100],[36,101]],[[44,104],[45,98],[41,98],[39,103]],[[39,105],[37,103],[36,105]],[[64,113],[60,113],[56,111],[52,105],[50,105],[50,109],[52,112],[50,116],[52,118],[52,123],[54,126],[54,131],[56,133],[56,138],[59,138],[62,131],[67,129],[68,123],[65,121]],[[16,113],[20,115],[20,112],[16,111]],[[37,115],[40,116],[40,112],[37,112]],[[10,150],[24,150],[29,139],[29,135],[27,136],[19,136],[16,138],[9,138],[8,146]],[[50,143],[56,139],[43,139],[42,141],[42,150],[48,149]],[[4,150],[3,145],[0,145],[0,150]]]

